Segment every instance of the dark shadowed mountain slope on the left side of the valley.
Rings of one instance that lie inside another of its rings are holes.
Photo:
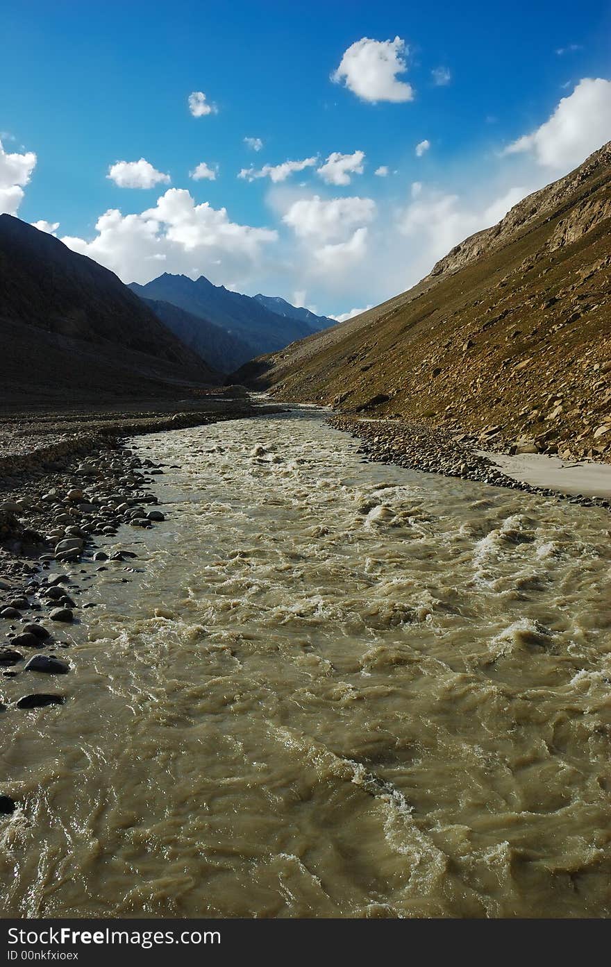
[[[165,395],[218,385],[112,272],[59,239],[0,216],[1,397]]]

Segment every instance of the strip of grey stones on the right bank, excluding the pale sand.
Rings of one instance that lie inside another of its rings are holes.
[[[403,420],[359,420],[339,414],[330,417],[329,423],[362,440],[361,453],[372,460],[480,484],[557,496],[584,507],[611,508],[611,501],[603,497],[562,493],[551,487],[533,486],[514,480],[490,459],[476,452],[480,449],[479,436],[452,433],[439,427]]]

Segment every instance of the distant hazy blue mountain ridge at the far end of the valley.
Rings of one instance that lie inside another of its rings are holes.
[[[324,324],[324,317],[314,316],[307,309],[295,308],[280,300],[283,304],[282,311],[272,310],[264,304],[267,302],[265,296],[252,298],[241,295],[226,289],[224,285],[213,285],[204,276],[192,279],[164,273],[145,285],[131,282],[130,287],[143,299],[170,303],[189,312],[191,316],[203,319],[209,325],[223,329],[235,340],[228,344],[225,372],[236,366],[230,359],[238,358],[237,365],[241,365],[253,356],[274,352],[296,339],[309,336],[314,327],[307,320],[308,315]],[[285,311],[284,307],[291,312]],[[306,316],[302,313],[306,313]],[[171,328],[172,319],[167,314],[165,319]],[[186,320],[182,319],[180,324],[181,336],[186,337]],[[189,344],[201,346],[204,352],[208,349],[205,334],[201,336],[194,330],[190,333]]]

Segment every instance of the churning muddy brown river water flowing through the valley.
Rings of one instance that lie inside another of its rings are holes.
[[[0,721],[3,916],[609,915],[608,512],[307,408],[133,450],[167,520]]]

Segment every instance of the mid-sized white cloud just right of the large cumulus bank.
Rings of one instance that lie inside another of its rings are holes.
[[[299,238],[323,242],[345,239],[348,232],[375,218],[372,198],[331,198],[323,200],[314,194],[293,202],[282,221]]]

